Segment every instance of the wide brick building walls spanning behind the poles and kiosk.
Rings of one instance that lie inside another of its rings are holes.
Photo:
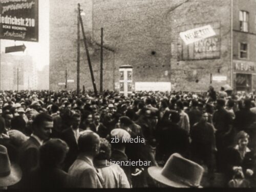
[[[249,2],[244,5],[247,5],[246,8],[251,15],[250,23],[254,24],[255,14],[252,14],[254,12],[252,9],[253,6],[255,8],[255,0],[246,1]],[[234,41],[239,38],[239,34],[233,32],[232,40],[231,26],[237,29],[238,10],[244,6],[242,0],[233,0],[234,19],[231,23],[231,2],[231,0],[52,0],[50,1],[50,89],[64,88],[58,86],[58,83],[65,82],[66,70],[68,79],[74,79],[74,83],[68,83],[68,89],[76,89],[77,3],[81,4],[81,9],[86,14],[82,18],[98,89],[100,66],[98,45],[101,27],[104,30],[104,46],[109,49],[104,49],[104,89],[115,88],[119,80],[118,67],[122,65],[133,66],[133,82],[168,81],[172,82],[173,89],[178,91],[205,91],[210,82],[216,89],[223,84],[231,84],[231,79],[235,76],[232,73],[231,51],[236,52]],[[180,32],[205,25],[211,25],[217,35],[200,44],[183,45],[179,38]],[[252,26],[251,24],[251,28]],[[248,40],[252,40],[255,38],[254,33],[255,31],[243,34],[242,38],[246,36]],[[253,41],[250,46],[250,53],[255,52]],[[233,55],[235,57],[235,54]],[[250,57],[250,60],[256,61],[254,57]],[[82,41],[80,66],[81,87],[84,85],[86,89],[92,89]],[[210,78],[215,76],[226,76],[227,80],[211,81]]]

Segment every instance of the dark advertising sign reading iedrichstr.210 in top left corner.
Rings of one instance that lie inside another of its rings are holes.
[[[38,0],[1,0],[0,38],[38,42]]]

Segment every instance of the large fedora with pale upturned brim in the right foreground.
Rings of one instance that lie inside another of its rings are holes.
[[[204,168],[199,164],[185,159],[180,154],[169,157],[164,167],[152,166],[148,174],[163,187],[201,187]]]

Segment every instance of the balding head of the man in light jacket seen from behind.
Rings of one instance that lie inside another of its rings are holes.
[[[100,137],[94,132],[86,132],[78,139],[79,152],[93,157],[98,154],[99,144]]]

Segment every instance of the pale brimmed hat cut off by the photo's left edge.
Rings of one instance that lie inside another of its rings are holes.
[[[9,160],[7,148],[0,145],[0,189],[7,189],[22,178],[22,170]]]

